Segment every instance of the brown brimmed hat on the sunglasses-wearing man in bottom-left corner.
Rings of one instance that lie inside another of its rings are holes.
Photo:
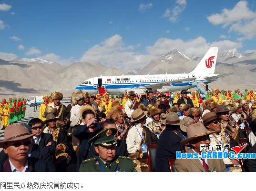
[[[23,123],[17,125],[12,124],[6,127],[4,131],[4,140],[0,141],[0,147],[3,147],[4,143],[9,141],[20,141],[33,137],[36,133],[31,134]]]

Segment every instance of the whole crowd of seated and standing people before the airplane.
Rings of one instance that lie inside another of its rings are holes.
[[[231,151],[243,138],[251,147],[243,152],[256,153],[254,92],[241,97],[236,90],[231,97],[230,90],[225,94],[215,89],[205,101],[199,91],[190,97],[187,93],[171,93],[168,100],[158,91],[139,98],[131,90],[114,98],[78,90],[65,106],[63,94],[52,92],[43,96],[39,118],[10,125],[4,117],[9,119],[12,102],[2,99],[0,171],[171,171],[168,159],[175,160],[174,171],[256,171],[256,159],[243,164],[229,158],[176,159],[177,152],[201,155],[202,144],[221,151],[229,145]],[[148,148],[152,145],[153,159]],[[154,170],[149,169],[152,160]]]

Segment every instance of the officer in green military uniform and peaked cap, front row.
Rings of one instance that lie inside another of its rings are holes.
[[[82,161],[80,172],[135,172],[131,158],[115,155],[116,132],[114,128],[104,129],[89,140],[99,156]]]

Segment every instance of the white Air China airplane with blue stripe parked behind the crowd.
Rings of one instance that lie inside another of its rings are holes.
[[[181,74],[154,74],[154,75],[127,75],[127,76],[100,76],[85,80],[75,90],[82,90],[91,94],[99,93],[104,89],[110,94],[119,94],[134,90],[143,93],[146,90],[179,91],[197,86],[198,82],[210,83],[231,74],[215,74],[218,47],[211,47],[204,58],[190,73]]]

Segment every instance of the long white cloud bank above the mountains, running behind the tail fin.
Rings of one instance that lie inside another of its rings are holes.
[[[119,69],[140,68],[144,67],[151,60],[155,60],[171,50],[177,49],[187,56],[204,56],[210,47],[220,47],[219,52],[226,50],[238,49],[242,47],[241,42],[230,40],[221,40],[215,42],[206,42],[203,37],[198,37],[192,40],[181,39],[158,39],[153,46],[145,47],[142,50],[146,53],[140,53],[135,50],[136,47],[129,45],[125,46],[120,35],[114,35],[102,41],[101,45],[94,45],[87,50],[80,61],[96,61],[103,64],[113,66]]]

